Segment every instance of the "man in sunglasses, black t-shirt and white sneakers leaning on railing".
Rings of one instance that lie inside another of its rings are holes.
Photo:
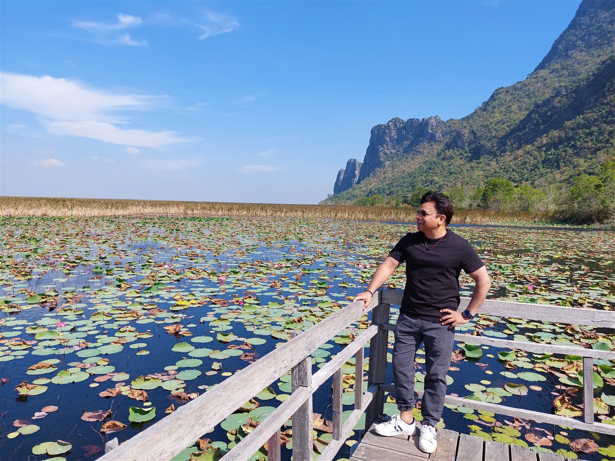
[[[378,424],[384,436],[413,435],[416,405],[415,354],[425,349],[425,387],[419,427],[419,449],[432,453],[437,447],[435,425],[440,421],[446,395],[446,372],[454,344],[454,327],[469,322],[485,301],[491,281],[485,264],[472,245],[446,226],[453,218],[453,205],[446,195],[428,192],[416,211],[418,232],[397,242],[363,293],[354,301],[367,306],[373,294],[402,262],[406,263],[406,286],[395,326],[393,380],[399,415]],[[464,270],[475,281],[472,300],[464,312],[459,307],[459,274]]]

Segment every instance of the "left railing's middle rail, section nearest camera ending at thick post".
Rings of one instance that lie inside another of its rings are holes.
[[[280,427],[295,414],[295,412],[311,398],[312,390],[309,387],[301,387],[282,402],[266,419],[261,422],[252,432],[242,439],[232,450],[226,452],[221,461],[250,459],[261,446],[268,441],[271,443],[272,432],[277,433],[278,452],[280,451]]]

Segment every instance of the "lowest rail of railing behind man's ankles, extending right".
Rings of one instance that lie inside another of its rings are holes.
[[[381,385],[380,388],[384,392],[394,393],[395,391],[395,388],[390,384]],[[423,391],[421,390],[415,390],[415,393],[419,397],[423,396]],[[477,400],[469,400],[463,397],[454,397],[452,395],[446,395],[444,398],[444,403],[456,406],[464,406],[466,408],[472,408],[475,410],[490,411],[496,414],[503,414],[506,416],[517,416],[523,419],[531,419],[536,422],[544,422],[548,424],[555,424],[558,426],[571,427],[574,429],[599,432],[601,434],[615,435],[615,426],[611,424],[604,424],[600,422],[587,424],[585,422],[566,416],[541,413],[539,411],[526,410],[523,408],[513,408],[498,403],[479,402]]]

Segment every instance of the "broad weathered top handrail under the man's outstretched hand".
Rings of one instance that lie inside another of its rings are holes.
[[[279,379],[282,374],[318,349],[341,329],[363,317],[378,304],[378,299],[372,299],[366,310],[363,310],[363,304],[363,302],[353,302],[331,314],[318,325],[272,350],[203,395],[182,405],[100,459],[103,461],[171,459],[185,447],[191,446],[209,428],[220,423],[250,400],[255,395],[255,390],[258,392]],[[249,386],[245,385],[247,382],[250,383]]]

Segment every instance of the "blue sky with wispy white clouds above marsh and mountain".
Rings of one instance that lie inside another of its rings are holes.
[[[318,203],[370,130],[466,116],[580,1],[0,1],[0,195]]]

